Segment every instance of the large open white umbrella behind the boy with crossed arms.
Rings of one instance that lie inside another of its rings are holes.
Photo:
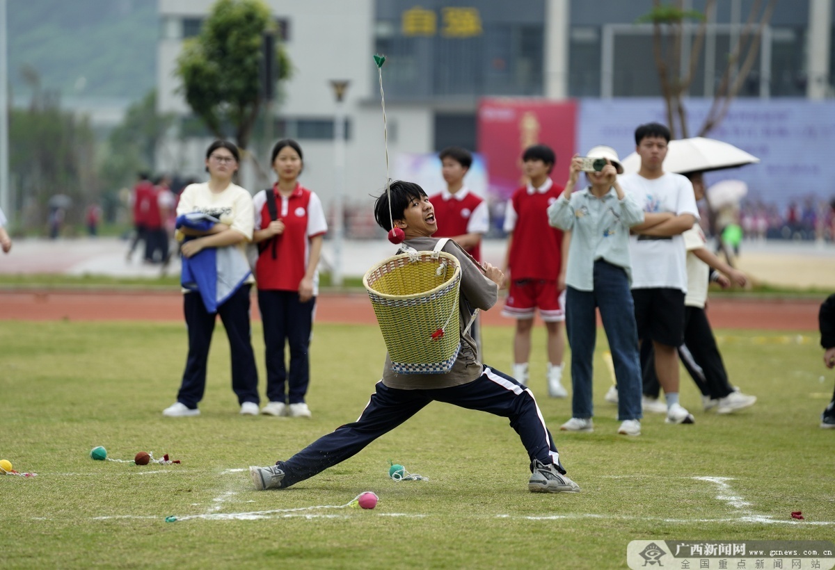
[[[733,144],[721,140],[693,137],[671,140],[664,159],[665,172],[685,174],[706,170],[732,169],[744,164],[757,164],[753,154],[737,149]],[[640,156],[632,153],[622,161],[624,172],[638,172]]]

